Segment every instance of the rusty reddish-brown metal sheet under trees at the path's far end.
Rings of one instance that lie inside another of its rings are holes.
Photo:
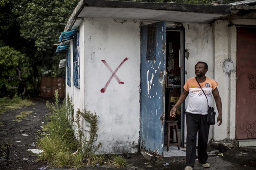
[[[65,98],[64,77],[41,77],[41,97],[54,99],[54,91],[57,89],[59,98]]]

